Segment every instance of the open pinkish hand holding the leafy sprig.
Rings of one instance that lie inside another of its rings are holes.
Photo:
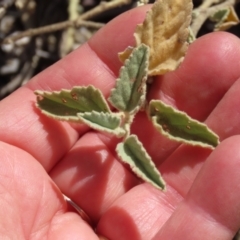
[[[132,132],[161,171],[166,192],[139,183],[119,163],[116,139],[49,119],[34,106],[37,89],[92,84],[108,96],[121,66],[117,53],[133,45],[135,26],[148,8],[116,18],[0,102],[1,239],[98,239],[69,211],[61,192],[111,240],[233,238],[240,226],[240,41],[235,36],[198,39],[180,68],[155,80],[148,95],[205,121],[222,141],[214,151],[171,142],[143,113],[135,118]]]

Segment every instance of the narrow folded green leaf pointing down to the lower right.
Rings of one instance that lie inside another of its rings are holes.
[[[116,150],[119,158],[129,164],[138,177],[165,190],[164,180],[136,135],[130,135],[124,142],[119,143]]]

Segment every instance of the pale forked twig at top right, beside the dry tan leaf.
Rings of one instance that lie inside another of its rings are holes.
[[[235,5],[236,0],[226,0],[221,4],[209,7],[210,3],[213,4],[216,2],[220,2],[220,0],[207,0],[205,3],[203,3],[204,5],[201,5],[199,8],[193,10],[191,29],[194,36],[197,35],[198,31],[200,30],[203,23],[207,20],[207,18],[212,16],[218,10]]]

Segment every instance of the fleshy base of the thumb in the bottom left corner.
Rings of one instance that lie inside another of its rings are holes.
[[[98,239],[67,213],[61,192],[31,155],[3,142],[0,152],[1,239]]]

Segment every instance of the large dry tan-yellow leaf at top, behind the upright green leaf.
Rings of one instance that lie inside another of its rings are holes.
[[[188,48],[188,27],[192,15],[192,0],[157,0],[143,24],[135,30],[136,46],[150,47],[149,75],[175,70]],[[124,61],[129,48],[119,54]]]

